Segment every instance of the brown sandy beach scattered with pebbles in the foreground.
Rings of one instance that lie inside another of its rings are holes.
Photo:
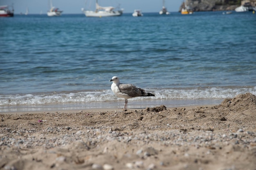
[[[256,170],[256,96],[249,93],[220,105],[0,118],[1,170]]]

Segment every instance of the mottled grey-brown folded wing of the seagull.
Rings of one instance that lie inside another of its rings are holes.
[[[141,90],[144,91],[132,84],[120,84],[119,89],[121,93],[128,94],[130,97],[141,96],[143,94]]]

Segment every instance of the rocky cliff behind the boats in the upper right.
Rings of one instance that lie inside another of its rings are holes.
[[[235,10],[241,4],[249,2],[253,7],[256,6],[256,0],[185,0],[179,11],[185,5],[193,11],[229,11]]]

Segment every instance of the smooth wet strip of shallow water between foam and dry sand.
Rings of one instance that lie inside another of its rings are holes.
[[[156,107],[164,105],[167,108],[219,105],[223,99],[170,99],[170,100],[128,100],[128,109],[145,109],[146,107]],[[52,104],[52,105],[16,105],[1,106],[0,113],[32,113],[32,112],[52,112],[52,111],[93,111],[123,109],[124,101],[113,102],[87,102],[76,104]]]

